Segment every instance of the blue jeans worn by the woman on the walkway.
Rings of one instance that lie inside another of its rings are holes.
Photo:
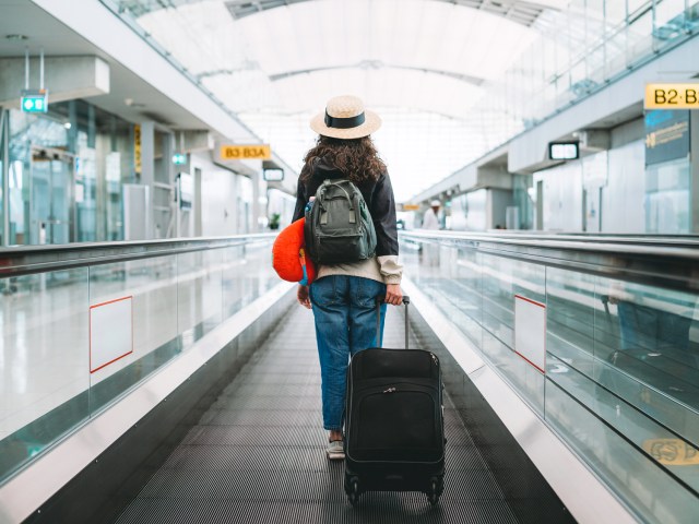
[[[320,357],[323,428],[342,430],[350,357],[376,347],[376,298],[386,297],[386,284],[347,275],[324,276],[310,286]],[[383,337],[386,303],[381,305]]]

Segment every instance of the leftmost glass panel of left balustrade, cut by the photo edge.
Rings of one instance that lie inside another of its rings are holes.
[[[0,478],[88,416],[87,269],[0,279]]]

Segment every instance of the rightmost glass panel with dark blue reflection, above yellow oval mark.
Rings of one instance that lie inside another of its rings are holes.
[[[597,381],[699,444],[698,296],[607,278],[597,288],[607,308],[607,322],[595,326],[595,344],[605,349]]]

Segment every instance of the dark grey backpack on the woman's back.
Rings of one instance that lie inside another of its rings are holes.
[[[350,180],[325,179],[307,206],[304,235],[316,264],[370,259],[376,251],[374,221],[359,189]]]

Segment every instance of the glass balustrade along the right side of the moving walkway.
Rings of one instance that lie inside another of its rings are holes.
[[[640,520],[696,522],[696,241],[670,259],[682,241],[638,257],[648,240],[596,239],[609,257],[584,237],[572,239],[574,248],[564,247],[570,238],[519,237],[406,233],[401,259],[405,274]],[[518,319],[520,298],[545,311],[541,365],[520,347],[517,331],[531,332]]]

